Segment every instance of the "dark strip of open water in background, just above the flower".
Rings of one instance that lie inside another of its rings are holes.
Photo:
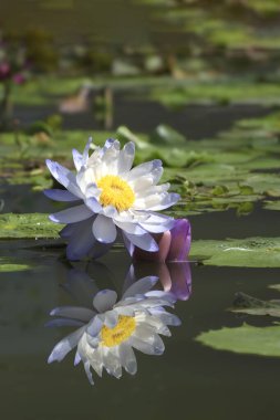
[[[180,111],[170,111],[155,102],[133,99],[117,94],[111,129],[126,125],[135,132],[151,133],[164,123],[175,127],[188,139],[203,139],[229,129],[238,119],[262,117],[271,112],[271,107],[258,105],[188,105]],[[34,120],[44,119],[55,113],[55,106],[18,106],[14,117],[22,127],[27,127]],[[63,114],[62,117],[62,127],[65,129],[104,129],[104,124],[96,120],[93,112]]]

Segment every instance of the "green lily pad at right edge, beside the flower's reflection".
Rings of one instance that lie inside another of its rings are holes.
[[[224,327],[201,333],[196,340],[217,350],[280,357],[279,325],[253,327],[243,324],[237,328]]]

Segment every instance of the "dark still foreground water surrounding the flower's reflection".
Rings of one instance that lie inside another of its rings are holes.
[[[196,343],[203,330],[238,326],[243,321],[226,309],[237,291],[272,297],[269,284],[279,282],[279,270],[217,269],[191,264],[193,295],[179,302],[182,318],[173,336],[165,337],[163,356],[137,353],[138,372],[116,380],[106,374],[91,387],[83,368],[74,368],[74,354],[61,364],[46,358],[68,329],[48,329],[48,313],[73,304],[65,284],[70,269],[61,250],[32,249],[34,242],[1,242],[1,254],[13,254],[34,264],[34,270],[0,274],[0,390],[1,412],[9,419],[262,419],[278,412],[280,361],[273,358],[215,351]],[[29,249],[24,249],[29,246]],[[101,260],[107,275],[92,267],[100,287],[122,288],[129,265],[122,251]],[[102,274],[102,275],[101,275]],[[139,273],[141,274],[141,273]]]

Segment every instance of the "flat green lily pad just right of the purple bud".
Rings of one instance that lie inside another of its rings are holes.
[[[280,267],[280,238],[194,241],[190,256],[205,265]]]

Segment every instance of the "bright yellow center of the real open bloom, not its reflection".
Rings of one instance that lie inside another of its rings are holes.
[[[100,202],[103,207],[114,206],[117,211],[129,209],[135,201],[135,195],[126,181],[115,175],[106,175],[97,181],[102,190]]]

